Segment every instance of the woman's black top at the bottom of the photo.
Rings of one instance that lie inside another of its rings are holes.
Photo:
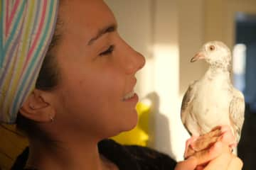
[[[173,170],[176,166],[174,159],[149,147],[119,145],[114,140],[102,140],[98,143],[98,148],[100,154],[110,159],[120,170]],[[28,152],[27,147],[17,157],[11,170],[25,170]]]

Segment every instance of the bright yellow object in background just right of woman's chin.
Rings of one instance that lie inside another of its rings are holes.
[[[112,140],[122,145],[146,146],[149,141],[149,111],[151,105],[139,102],[136,106],[139,116],[137,126],[128,132],[122,132],[117,136],[111,137]]]

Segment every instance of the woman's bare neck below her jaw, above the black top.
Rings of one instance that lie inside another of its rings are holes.
[[[30,141],[28,165],[36,169],[95,169],[107,167],[105,159],[100,157],[97,142],[55,142],[43,144]]]

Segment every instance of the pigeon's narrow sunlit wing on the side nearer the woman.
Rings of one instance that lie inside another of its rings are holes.
[[[183,100],[181,103],[181,120],[187,130],[188,130],[188,127],[186,127],[186,118],[189,114],[189,108],[191,106],[191,102],[193,101],[193,98],[195,96],[196,82],[197,81],[194,81],[193,84],[188,86],[188,90],[186,91],[186,94],[183,96]]]

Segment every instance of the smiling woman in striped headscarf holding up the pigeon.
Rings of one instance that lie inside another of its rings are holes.
[[[30,143],[14,169],[241,169],[221,128],[193,142],[177,165],[103,140],[136,125],[134,74],[145,60],[120,38],[102,0],[1,6],[1,120],[17,123]]]

